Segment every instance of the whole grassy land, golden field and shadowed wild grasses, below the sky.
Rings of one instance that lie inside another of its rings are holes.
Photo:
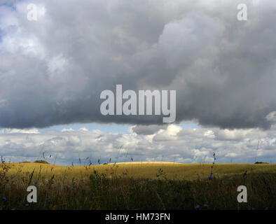
[[[2,163],[0,197],[0,209],[276,209],[276,165]]]

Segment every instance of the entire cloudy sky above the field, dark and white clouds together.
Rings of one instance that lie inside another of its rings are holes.
[[[239,3],[0,0],[0,156],[275,163],[276,2]],[[175,122],[103,116],[118,84],[176,90]]]

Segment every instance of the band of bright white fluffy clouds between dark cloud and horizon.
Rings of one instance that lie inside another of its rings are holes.
[[[127,133],[99,130],[1,130],[0,155],[20,162],[44,156],[49,162],[69,165],[78,162],[175,161],[175,162],[275,162],[276,130],[182,129],[169,125],[154,134],[137,134],[132,126]],[[151,126],[149,126],[151,129]],[[154,127],[156,129],[156,127]],[[139,129],[138,129],[139,130]],[[259,145],[259,146],[258,146]],[[258,150],[257,150],[258,146]],[[89,158],[89,159],[88,159]],[[86,160],[85,160],[86,159]]]

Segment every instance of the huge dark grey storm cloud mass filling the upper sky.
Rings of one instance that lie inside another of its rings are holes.
[[[244,1],[0,1],[0,126],[161,124],[102,116],[99,95],[177,90],[177,122],[263,127],[276,111],[276,7]],[[16,10],[15,10],[15,9]],[[45,10],[43,10],[45,8]]]

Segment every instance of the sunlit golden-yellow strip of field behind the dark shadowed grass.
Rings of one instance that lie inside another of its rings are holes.
[[[134,177],[134,178],[156,178],[161,175],[167,179],[205,179],[211,172],[212,164],[181,164],[173,162],[125,162],[109,165],[91,165],[61,167],[56,165],[45,165],[39,163],[7,163],[8,175],[29,174],[34,171],[37,175],[48,178],[55,174],[55,178],[76,178],[89,176],[94,169],[107,177]],[[161,170],[160,170],[161,169]],[[233,176],[236,174],[251,173],[273,173],[276,174],[276,165],[252,165],[252,164],[216,164],[213,175],[215,177]]]

